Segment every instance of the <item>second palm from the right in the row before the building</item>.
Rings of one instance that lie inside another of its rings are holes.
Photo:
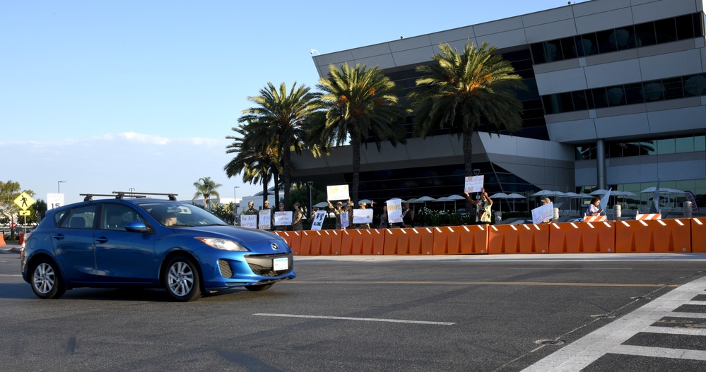
[[[351,68],[329,66],[329,78],[319,79],[317,88],[324,113],[312,118],[313,143],[326,148],[329,143],[343,145],[350,138],[353,150],[353,184],[351,200],[358,201],[360,182],[360,146],[363,139],[375,141],[377,150],[381,141],[389,140],[393,146],[406,142],[402,125],[408,110],[399,105],[395,84],[377,67],[367,69],[356,64]],[[367,145],[367,143],[366,143]]]

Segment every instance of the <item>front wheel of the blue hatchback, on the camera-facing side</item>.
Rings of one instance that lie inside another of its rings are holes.
[[[194,301],[201,297],[201,277],[191,258],[176,256],[169,260],[162,281],[167,293],[177,301]]]

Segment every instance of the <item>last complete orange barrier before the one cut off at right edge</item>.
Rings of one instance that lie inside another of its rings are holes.
[[[691,252],[691,224],[686,219],[617,222],[616,252]]]

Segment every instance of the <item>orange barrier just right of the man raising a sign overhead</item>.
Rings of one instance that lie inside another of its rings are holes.
[[[548,252],[547,224],[499,224],[488,229],[488,254]]]

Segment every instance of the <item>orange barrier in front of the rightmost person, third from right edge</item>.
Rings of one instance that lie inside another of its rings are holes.
[[[616,228],[609,222],[549,225],[549,253],[614,253]]]

